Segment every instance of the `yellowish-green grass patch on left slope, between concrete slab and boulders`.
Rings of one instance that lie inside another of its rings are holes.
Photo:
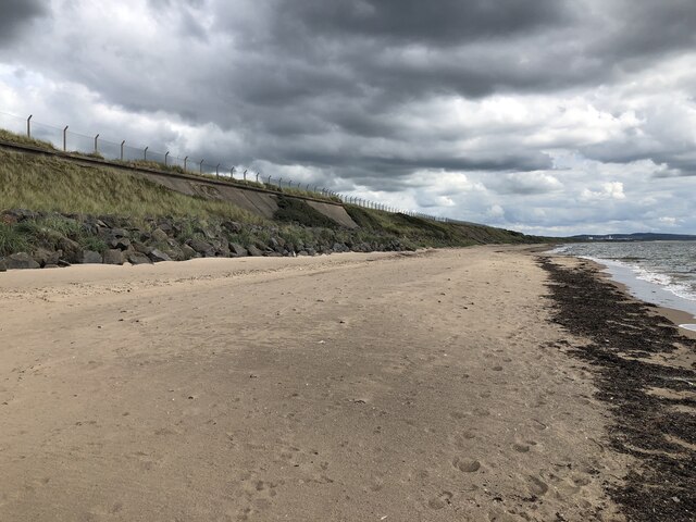
[[[186,196],[122,171],[4,150],[0,150],[0,206],[94,215],[214,216],[268,223],[232,203]]]

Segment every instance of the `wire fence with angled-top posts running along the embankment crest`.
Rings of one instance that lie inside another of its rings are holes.
[[[127,162],[136,166],[148,166],[151,169],[181,171],[182,173],[214,176],[219,179],[231,182],[256,182],[268,188],[274,189],[296,189],[308,192],[308,196],[321,195],[324,198],[337,198],[344,203],[355,204],[365,209],[380,210],[389,213],[400,213],[425,220],[445,223],[464,223],[448,217],[424,214],[411,210],[400,209],[395,206],[372,201],[359,196],[349,196],[320,187],[319,184],[302,183],[288,177],[265,176],[261,171],[245,169],[231,161],[207,160],[192,156],[182,156],[179,152],[157,150],[149,146],[133,144],[127,139],[109,140],[100,133],[86,135],[76,133],[70,125],[54,126],[47,125],[34,120],[33,115],[26,119],[0,111],[0,128],[50,144],[53,149],[99,158],[108,161]]]

